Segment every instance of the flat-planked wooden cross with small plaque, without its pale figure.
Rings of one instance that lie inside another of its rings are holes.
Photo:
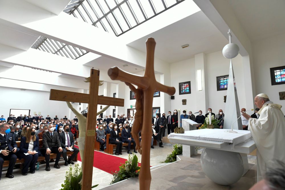
[[[97,104],[124,106],[124,99],[98,96],[99,74],[99,70],[91,69],[89,94],[50,89],[50,100],[88,103],[85,151],[84,155],[82,155],[84,156],[82,190],[89,190],[92,187]]]

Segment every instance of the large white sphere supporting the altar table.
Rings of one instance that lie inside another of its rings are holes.
[[[243,175],[243,160],[238,152],[205,148],[201,154],[204,173],[217,184],[231,185]]]

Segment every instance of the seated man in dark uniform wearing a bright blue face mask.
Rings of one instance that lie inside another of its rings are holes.
[[[13,139],[13,134],[10,133],[10,128],[7,123],[0,125],[0,179],[4,160],[9,160],[6,177],[13,178],[13,167],[16,163],[16,153],[19,151],[17,143]]]

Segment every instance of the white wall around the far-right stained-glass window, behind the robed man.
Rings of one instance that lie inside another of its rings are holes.
[[[285,100],[279,100],[279,92],[285,91],[285,84],[271,85],[270,68],[285,66],[284,44],[285,34],[252,42],[256,93],[266,93],[271,101],[282,105],[283,112]]]

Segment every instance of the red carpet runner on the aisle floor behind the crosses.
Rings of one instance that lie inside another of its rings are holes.
[[[127,154],[127,153],[123,153],[123,154]],[[78,153],[78,161],[81,162],[80,153]],[[115,172],[116,170],[119,171],[119,166],[121,166],[125,162],[126,162],[126,159],[124,158],[120,158],[117,156],[113,156],[111,154],[105,154],[103,152],[98,152],[94,150],[93,167],[101,169],[110,174],[113,174],[112,172]],[[141,163],[139,163],[139,166],[141,166]]]

